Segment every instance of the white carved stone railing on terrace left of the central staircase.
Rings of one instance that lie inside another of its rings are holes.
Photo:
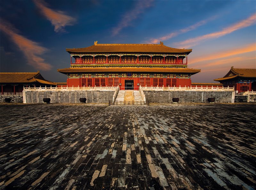
[[[23,87],[23,91],[116,91],[119,86],[94,86],[94,87]]]

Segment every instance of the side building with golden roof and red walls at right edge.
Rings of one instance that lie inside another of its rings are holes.
[[[214,79],[221,82],[224,87],[235,86],[236,93],[256,91],[256,69],[231,67],[230,71],[222,78]]]

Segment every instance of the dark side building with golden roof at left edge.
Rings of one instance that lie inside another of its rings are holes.
[[[35,73],[0,73],[1,94],[22,94],[23,86],[56,86],[47,81],[39,71]]]

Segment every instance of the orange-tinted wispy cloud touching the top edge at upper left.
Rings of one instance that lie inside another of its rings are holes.
[[[76,22],[75,18],[66,15],[65,12],[48,8],[48,5],[43,0],[34,0],[34,3],[46,19],[51,21],[55,32],[63,32],[65,31],[65,26],[72,26]]]

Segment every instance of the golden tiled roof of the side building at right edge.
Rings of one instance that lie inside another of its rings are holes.
[[[244,69],[244,68],[234,68],[231,67],[227,75],[222,78],[214,79],[214,81],[223,81],[236,77],[247,77],[247,78],[256,78],[256,69]]]

